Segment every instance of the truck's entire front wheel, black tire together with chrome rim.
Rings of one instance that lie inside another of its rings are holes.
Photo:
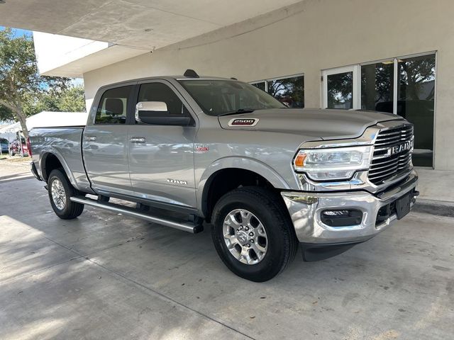
[[[242,225],[248,219],[250,222]],[[241,278],[270,280],[287,268],[297,253],[297,236],[287,208],[279,196],[265,188],[250,186],[226,193],[216,203],[212,221],[211,237],[218,255]],[[245,242],[245,237],[250,239]]]

